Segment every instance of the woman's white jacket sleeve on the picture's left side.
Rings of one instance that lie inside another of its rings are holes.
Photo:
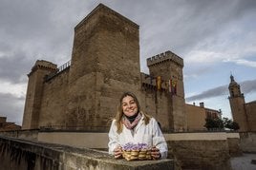
[[[117,136],[117,126],[116,126],[116,121],[113,120],[110,126],[109,130],[109,154],[114,155],[114,149],[117,147],[117,145],[120,145],[118,142],[118,136]]]

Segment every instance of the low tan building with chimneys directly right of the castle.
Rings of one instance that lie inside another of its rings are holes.
[[[204,107],[203,103],[200,105],[185,104],[185,113],[187,116],[187,129],[189,131],[206,130],[204,127],[205,119],[222,119],[222,111]]]

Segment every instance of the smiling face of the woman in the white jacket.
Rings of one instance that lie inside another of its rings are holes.
[[[138,105],[136,104],[134,98],[131,96],[126,96],[122,99],[122,112],[126,116],[134,116],[138,112]]]

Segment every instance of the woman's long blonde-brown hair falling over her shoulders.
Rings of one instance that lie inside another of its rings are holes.
[[[116,120],[116,125],[117,125],[117,133],[120,134],[122,132],[122,117],[123,117],[123,111],[122,111],[122,100],[123,98],[127,97],[127,96],[130,96],[134,99],[135,103],[137,104],[138,106],[138,113],[141,113],[144,117],[144,123],[145,124],[148,124],[149,123],[149,120],[151,119],[151,116],[146,114],[146,113],[143,113],[142,111],[140,111],[140,106],[139,106],[139,101],[136,97],[135,94],[133,94],[132,92],[124,92],[121,97],[120,97],[120,100],[119,100],[119,104],[117,106],[117,115],[115,117],[115,120]]]

